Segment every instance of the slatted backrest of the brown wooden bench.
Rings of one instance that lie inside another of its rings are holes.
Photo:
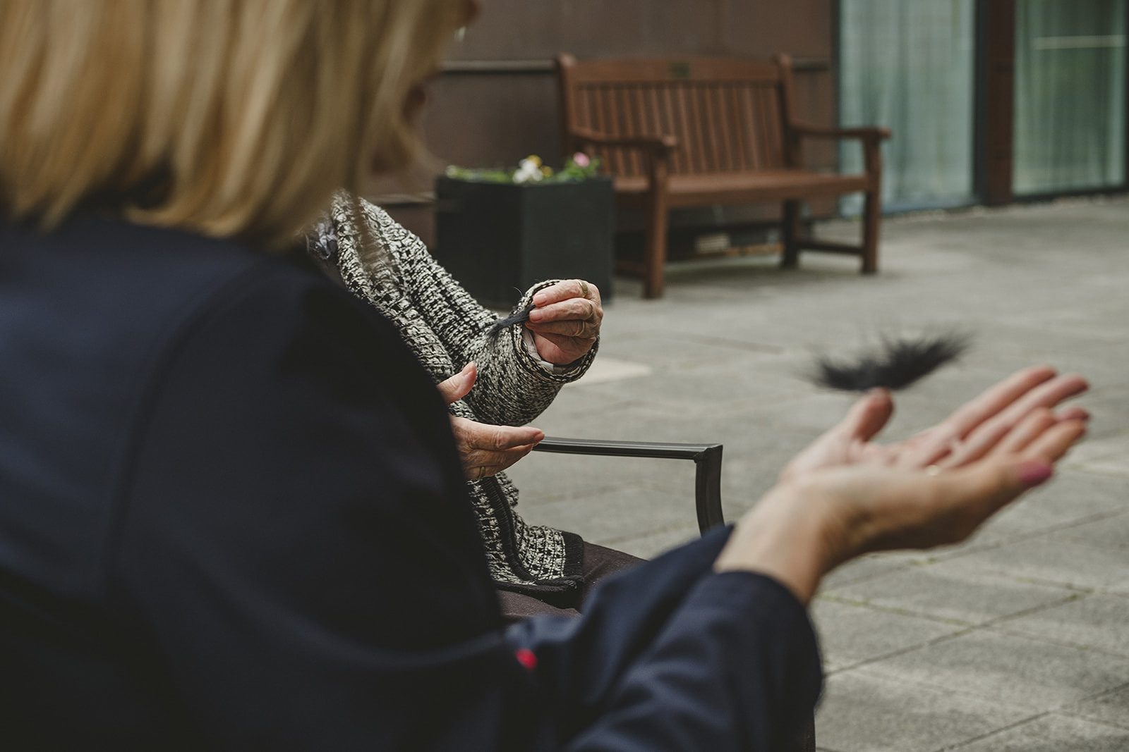
[[[790,68],[786,61],[559,57],[566,134],[675,135],[675,175],[785,167]],[[614,175],[641,176],[637,150],[597,149]]]

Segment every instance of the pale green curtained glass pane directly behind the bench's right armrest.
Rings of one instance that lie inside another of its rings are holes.
[[[839,18],[839,120],[894,132],[883,153],[883,204],[972,203],[973,0],[841,0]],[[840,159],[861,171],[857,143]],[[860,205],[851,196],[843,211]]]

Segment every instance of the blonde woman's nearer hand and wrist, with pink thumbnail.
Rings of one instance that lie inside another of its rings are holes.
[[[768,574],[806,603],[823,575],[856,556],[959,543],[1048,480],[1085,434],[1085,419],[1047,415],[1032,410],[989,451],[944,472],[864,462],[781,483],[741,521],[715,568]]]

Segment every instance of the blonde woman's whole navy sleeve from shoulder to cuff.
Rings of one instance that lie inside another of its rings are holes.
[[[200,746],[769,750],[811,713],[803,609],[707,574],[721,537],[504,632],[441,400],[316,277],[220,294],[147,406],[107,590]]]

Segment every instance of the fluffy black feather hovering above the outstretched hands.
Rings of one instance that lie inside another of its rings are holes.
[[[812,381],[828,389],[867,391],[877,387],[905,389],[942,365],[963,355],[971,337],[962,333],[921,335],[917,338],[885,339],[882,347],[850,361],[821,356]]]

